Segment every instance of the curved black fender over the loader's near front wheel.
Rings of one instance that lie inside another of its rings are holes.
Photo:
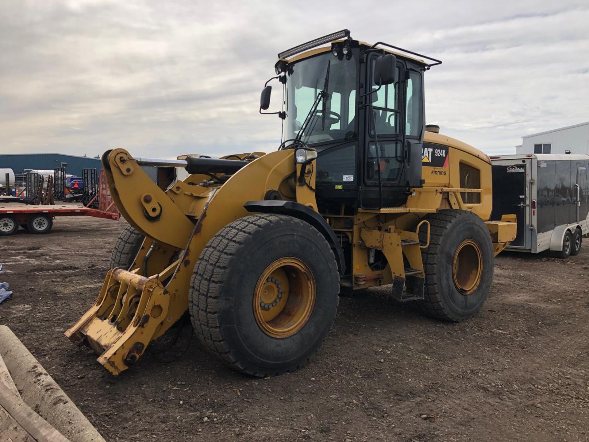
[[[331,246],[339,274],[343,275],[346,272],[346,262],[343,258],[342,246],[339,245],[333,229],[315,210],[309,209],[305,204],[283,200],[249,201],[243,204],[243,207],[248,212],[279,213],[280,215],[289,215],[309,223],[325,236],[325,239]]]

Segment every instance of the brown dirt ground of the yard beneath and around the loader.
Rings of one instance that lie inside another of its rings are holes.
[[[94,302],[124,226],[61,218],[49,235],[0,238],[14,291],[0,324],[108,441],[589,440],[589,241],[568,260],[502,253],[487,303],[462,324],[386,287],[342,298],[325,344],[292,374],[230,371],[186,328],[173,351],[112,377],[63,332]]]

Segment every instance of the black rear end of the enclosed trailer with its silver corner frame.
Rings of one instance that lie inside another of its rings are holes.
[[[493,164],[492,220],[501,215],[517,216],[517,236],[509,247],[530,249],[530,160],[508,160]]]

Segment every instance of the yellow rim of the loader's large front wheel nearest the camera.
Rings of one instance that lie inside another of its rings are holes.
[[[256,283],[254,316],[264,333],[288,338],[303,328],[315,305],[315,278],[298,258],[280,258]]]

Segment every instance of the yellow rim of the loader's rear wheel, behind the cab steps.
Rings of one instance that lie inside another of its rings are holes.
[[[452,278],[454,285],[462,295],[474,292],[482,276],[482,253],[477,242],[465,239],[458,246],[452,261]]]

